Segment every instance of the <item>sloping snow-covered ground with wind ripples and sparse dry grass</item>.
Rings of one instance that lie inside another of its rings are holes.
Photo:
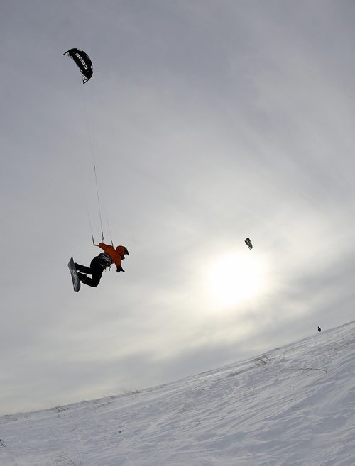
[[[142,392],[0,416],[0,465],[355,465],[354,343],[355,321]]]

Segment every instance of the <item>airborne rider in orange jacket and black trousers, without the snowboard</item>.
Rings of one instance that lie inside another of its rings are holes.
[[[116,265],[117,272],[124,272],[121,262],[124,260],[125,255],[129,255],[129,251],[125,246],[117,246],[117,248],[114,248],[114,246],[105,243],[99,243],[95,246],[102,248],[104,253],[94,257],[90,263],[90,267],[75,262],[75,269],[78,272],[77,276],[80,282],[87,284],[89,287],[97,287],[101,280],[102,272],[104,272],[107,267],[111,269],[112,264]],[[87,277],[87,274],[90,274],[92,277]]]

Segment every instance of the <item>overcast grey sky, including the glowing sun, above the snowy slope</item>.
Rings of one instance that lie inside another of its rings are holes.
[[[354,24],[346,0],[0,1],[0,414],[354,318]],[[94,165],[130,257],[75,294]]]

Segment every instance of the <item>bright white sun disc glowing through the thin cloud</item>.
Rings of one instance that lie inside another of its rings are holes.
[[[265,286],[265,264],[250,251],[223,255],[209,271],[209,287],[219,306],[256,299]]]

